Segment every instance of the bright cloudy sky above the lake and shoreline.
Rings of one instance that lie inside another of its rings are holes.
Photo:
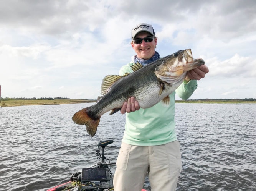
[[[2,98],[97,99],[135,54],[139,23],[153,26],[161,57],[190,48],[205,60],[190,99],[256,98],[255,0],[8,0],[0,10]]]

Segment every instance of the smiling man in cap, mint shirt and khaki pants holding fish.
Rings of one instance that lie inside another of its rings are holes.
[[[146,65],[160,58],[155,51],[157,38],[150,24],[140,23],[132,29],[131,45],[136,55],[122,66],[119,75],[132,72],[130,66],[136,62]],[[126,113],[126,125],[114,175],[115,191],[141,191],[147,174],[152,191],[176,189],[181,154],[175,133],[175,93],[188,99],[197,88],[197,80],[206,73],[205,65],[189,71],[180,87],[169,95],[168,106],[159,102],[142,109],[134,97],[124,102],[121,113]]]

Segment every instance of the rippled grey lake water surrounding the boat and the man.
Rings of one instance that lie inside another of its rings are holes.
[[[104,114],[96,135],[71,120],[91,104],[0,108],[0,190],[46,190],[97,161],[97,143],[115,162],[125,115]],[[256,104],[176,104],[179,191],[256,190]],[[112,168],[114,172],[115,168]],[[144,189],[150,190],[146,179]]]

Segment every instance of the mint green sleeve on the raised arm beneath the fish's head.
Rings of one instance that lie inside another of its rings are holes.
[[[183,82],[177,89],[176,94],[181,99],[187,100],[197,89],[197,80],[190,80],[188,83]]]

